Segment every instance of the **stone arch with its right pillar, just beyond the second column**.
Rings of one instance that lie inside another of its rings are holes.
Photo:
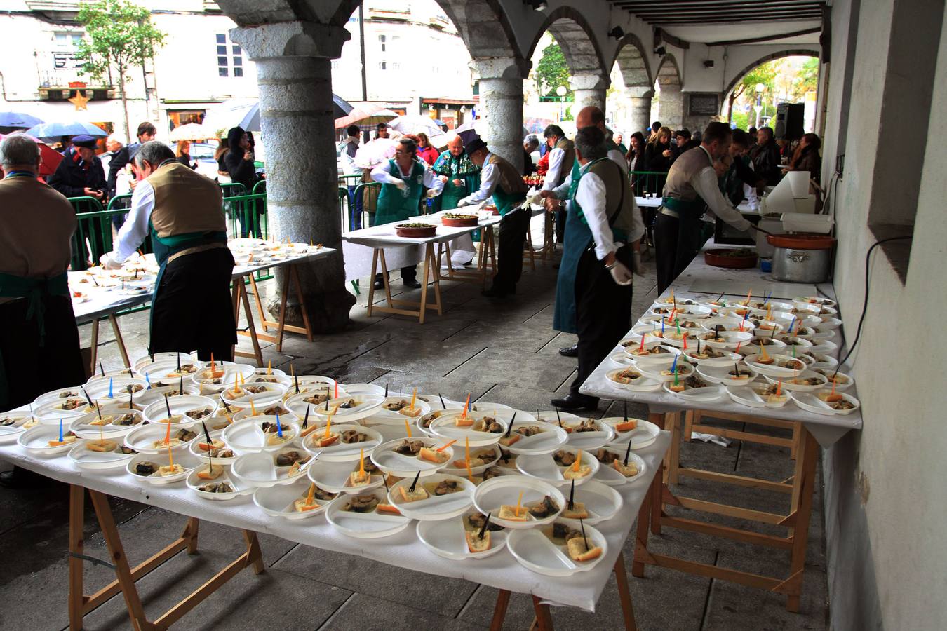
[[[586,105],[595,105],[604,111],[605,91],[611,79],[599,44],[585,17],[571,7],[553,10],[546,16],[543,25],[536,30],[536,35],[529,45],[529,58],[545,31],[549,31],[563,49],[565,62],[569,66],[569,83],[575,98],[575,112]]]

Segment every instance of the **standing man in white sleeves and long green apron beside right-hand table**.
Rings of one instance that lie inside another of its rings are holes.
[[[632,251],[644,235],[628,173],[608,156],[597,127],[576,133],[579,177],[570,193],[553,328],[579,336],[578,375],[562,410],[594,410],[599,399],[579,389],[628,331],[632,317]]]

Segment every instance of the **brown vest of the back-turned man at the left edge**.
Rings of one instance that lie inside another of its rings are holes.
[[[76,211],[62,193],[35,178],[0,181],[0,272],[58,276],[69,267],[74,232]]]

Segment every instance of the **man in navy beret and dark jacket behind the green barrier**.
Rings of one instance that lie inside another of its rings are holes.
[[[108,186],[105,184],[105,169],[96,157],[96,139],[84,134],[73,136],[72,147],[65,150],[59,167],[56,167],[56,171],[49,176],[49,185],[66,197],[95,198],[104,207],[105,191]],[[91,211],[95,208],[87,210]],[[105,253],[103,232],[107,226],[108,222],[99,218],[86,220],[82,227],[89,237],[93,252],[85,252],[85,239],[82,239],[80,242],[82,263],[94,261]]]

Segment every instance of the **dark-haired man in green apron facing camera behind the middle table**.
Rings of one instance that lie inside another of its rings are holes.
[[[383,162],[371,171],[371,179],[382,184],[378,196],[378,209],[375,211],[373,226],[384,223],[407,221],[420,215],[420,198],[427,188],[428,197],[436,197],[444,183],[423,161],[417,159],[418,145],[410,138],[398,141],[395,157]],[[402,268],[404,287],[420,287],[417,280],[418,266],[408,265]],[[375,275],[375,289],[384,288],[382,274]]]

